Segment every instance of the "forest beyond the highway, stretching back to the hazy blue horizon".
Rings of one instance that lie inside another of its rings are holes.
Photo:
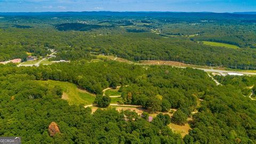
[[[25,60],[26,52],[45,56],[49,54],[47,49],[56,49],[58,60],[82,59],[89,52],[133,61],[171,60],[256,69],[256,27],[255,17],[251,15],[161,13],[149,16],[108,12],[2,15],[0,61]],[[240,49],[204,45],[200,41],[233,44]]]

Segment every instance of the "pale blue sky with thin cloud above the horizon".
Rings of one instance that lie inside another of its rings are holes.
[[[256,0],[0,0],[0,12],[252,12]]]

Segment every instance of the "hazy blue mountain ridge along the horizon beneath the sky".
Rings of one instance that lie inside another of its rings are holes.
[[[70,17],[70,16],[113,16],[113,17],[161,17],[194,20],[256,20],[256,12],[214,13],[214,12],[0,12],[0,16],[47,16],[47,17]]]

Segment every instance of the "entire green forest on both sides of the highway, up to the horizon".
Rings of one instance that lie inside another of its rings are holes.
[[[255,15],[67,12],[0,16],[0,61],[26,61],[28,55],[45,58],[52,49],[57,53],[50,60],[70,60],[38,67],[0,65],[1,137],[18,136],[22,143],[256,143],[255,76],[215,75],[221,83],[216,85],[210,74],[199,69],[97,59],[101,54],[131,61],[256,69]],[[103,108],[93,111],[82,102],[72,105],[62,99],[63,87],[47,80],[69,82],[94,98],[90,104]],[[113,99],[102,93],[108,87],[118,87],[121,96],[115,104],[139,106],[144,113],[108,107]],[[149,121],[145,111],[157,115]],[[49,132],[52,122],[59,127],[55,135]],[[187,124],[189,132],[183,137],[169,124]]]

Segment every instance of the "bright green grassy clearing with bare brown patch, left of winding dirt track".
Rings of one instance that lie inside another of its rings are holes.
[[[37,81],[40,84],[50,87],[60,86],[63,90],[63,99],[66,99],[70,105],[91,105],[95,95],[85,90],[80,90],[75,84],[59,81]]]

